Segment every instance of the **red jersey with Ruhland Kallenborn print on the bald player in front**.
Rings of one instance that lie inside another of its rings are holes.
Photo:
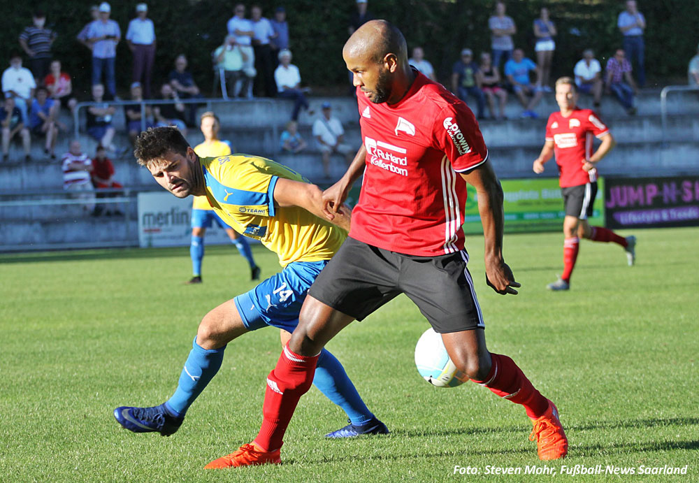
[[[466,104],[414,72],[393,105],[356,90],[366,169],[349,236],[433,257],[463,249],[466,182],[458,173],[487,161],[488,151]]]

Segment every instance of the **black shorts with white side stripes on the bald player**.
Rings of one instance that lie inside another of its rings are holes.
[[[347,238],[308,294],[362,320],[398,294],[415,302],[435,332],[484,327],[468,253],[414,257]]]

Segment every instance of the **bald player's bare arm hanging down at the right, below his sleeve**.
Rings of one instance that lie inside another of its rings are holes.
[[[485,274],[489,286],[498,294],[517,295],[512,270],[503,259],[503,188],[493,171],[490,161],[476,166],[471,171],[461,173],[461,177],[476,189],[478,212],[483,224],[485,238]]]

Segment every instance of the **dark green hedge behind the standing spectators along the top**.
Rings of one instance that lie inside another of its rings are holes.
[[[342,85],[347,82],[341,51],[347,39],[348,18],[353,0],[260,1],[264,15],[271,17],[278,4],[287,8],[294,63],[301,69],[304,82],[316,86]],[[531,23],[542,5],[549,7],[559,36],[554,59],[554,75],[570,73],[584,48],[596,50],[604,60],[621,45],[616,27],[623,3],[602,0],[510,1],[508,15],[517,22],[517,45],[533,57]],[[112,18],[119,22],[122,36],[134,17],[136,1],[112,2]],[[251,3],[247,3],[250,5]],[[89,51],[75,41],[75,35],[89,20],[90,3],[63,1],[46,3],[47,24],[59,38],[55,56],[62,59],[73,75],[75,88],[86,92],[89,87]],[[212,82],[210,52],[226,34],[226,22],[232,15],[233,2],[148,1],[150,17],[155,22],[158,50],[154,72],[155,84],[164,80],[172,69],[175,55],[184,52],[200,87],[206,92]],[[13,5],[12,14],[0,17],[0,65],[8,65],[8,54],[19,49],[17,36],[31,24],[33,6]],[[646,70],[651,80],[681,77],[689,59],[696,53],[699,34],[699,2],[686,0],[639,1],[647,19]],[[487,20],[493,1],[484,0],[372,0],[369,10],[377,17],[391,20],[408,39],[408,46],[423,45],[426,58],[447,80],[459,50],[470,47],[475,52],[490,45]],[[131,52],[125,42],[117,50],[117,85],[125,92],[131,76]],[[649,85],[652,85],[649,82]]]

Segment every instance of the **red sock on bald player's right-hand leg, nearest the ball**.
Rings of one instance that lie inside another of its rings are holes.
[[[549,401],[526,378],[512,359],[501,354],[490,354],[493,366],[484,381],[473,381],[485,386],[501,398],[521,404],[532,419],[541,417],[549,408]]]

